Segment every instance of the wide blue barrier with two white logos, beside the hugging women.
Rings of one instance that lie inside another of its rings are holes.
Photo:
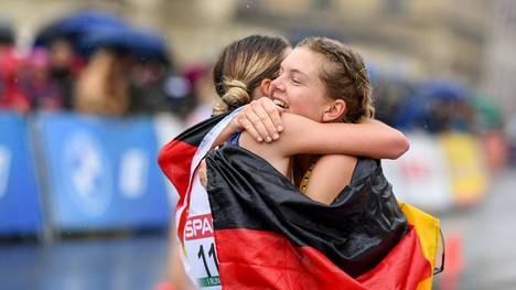
[[[58,230],[168,227],[152,122],[72,114],[36,118]]]

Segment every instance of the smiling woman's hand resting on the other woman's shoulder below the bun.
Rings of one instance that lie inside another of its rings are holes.
[[[281,114],[284,109],[276,106],[267,97],[252,100],[234,121],[239,130],[248,131],[258,142],[278,140],[283,130]]]

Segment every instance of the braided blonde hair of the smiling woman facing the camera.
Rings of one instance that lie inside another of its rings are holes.
[[[323,67],[321,79],[326,95],[332,99],[343,99],[346,111],[345,122],[358,122],[362,118],[373,118],[375,109],[372,100],[372,85],[362,56],[350,46],[326,37],[308,37],[297,47],[308,47],[321,53],[332,63]]]

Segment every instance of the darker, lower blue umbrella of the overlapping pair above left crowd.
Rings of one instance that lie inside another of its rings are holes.
[[[159,34],[141,29],[125,28],[90,33],[79,44],[80,51],[90,54],[99,47],[127,51],[141,60],[160,60],[169,63],[168,45]]]

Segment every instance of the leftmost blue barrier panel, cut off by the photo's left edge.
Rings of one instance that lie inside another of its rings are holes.
[[[42,211],[25,120],[0,112],[0,235],[35,235]]]

